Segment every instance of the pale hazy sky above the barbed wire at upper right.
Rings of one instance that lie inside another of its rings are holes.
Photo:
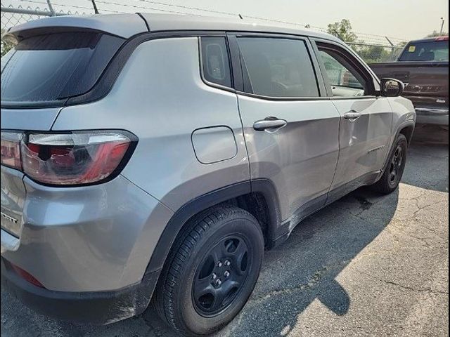
[[[446,0],[184,0],[170,1],[243,16],[262,16],[327,27],[328,23],[347,18],[355,32],[387,35],[400,39],[425,37],[439,32],[442,20],[449,29],[449,2]]]

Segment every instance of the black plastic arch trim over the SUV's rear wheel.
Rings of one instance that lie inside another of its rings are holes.
[[[246,180],[208,192],[188,201],[184,206],[181,206],[179,210],[174,213],[172,218],[170,218],[165,230],[162,232],[158,244],[152,253],[150,262],[148,263],[146,274],[148,272],[160,271],[162,267],[164,267],[166,258],[169,256],[170,249],[172,249],[181,228],[189,219],[195,216],[195,214],[217,204],[252,192],[259,192],[263,194],[264,199],[266,199],[269,211],[269,241],[276,239],[277,228],[281,224],[281,213],[274,184],[268,179]]]

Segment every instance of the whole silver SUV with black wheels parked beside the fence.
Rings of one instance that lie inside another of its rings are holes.
[[[416,114],[339,39],[245,20],[27,22],[1,59],[1,279],[61,319],[154,303],[221,329],[264,249],[363,185],[390,193]]]

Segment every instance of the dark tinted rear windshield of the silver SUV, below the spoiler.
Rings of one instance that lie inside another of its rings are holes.
[[[1,58],[1,103],[55,103],[91,89],[124,39],[93,32],[30,37]]]

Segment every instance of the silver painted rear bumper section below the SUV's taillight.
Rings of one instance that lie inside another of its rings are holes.
[[[16,236],[2,222],[3,258],[52,291],[116,291],[141,282],[172,211],[122,176],[85,187],[19,182],[27,192],[17,216],[9,211],[13,197],[4,203],[13,190],[1,191],[2,213],[20,225]]]

